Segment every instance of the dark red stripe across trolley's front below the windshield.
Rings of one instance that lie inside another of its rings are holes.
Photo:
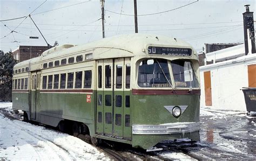
[[[176,90],[155,90],[155,89],[132,89],[135,95],[200,95],[200,89],[176,89]]]

